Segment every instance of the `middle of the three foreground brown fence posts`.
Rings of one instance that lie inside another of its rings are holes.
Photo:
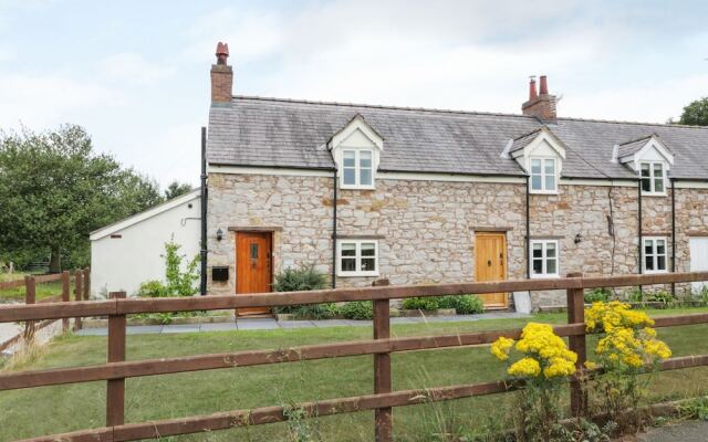
[[[388,280],[377,280],[373,286],[388,285]],[[388,339],[391,337],[391,307],[389,299],[375,299],[374,304],[374,339]],[[381,352],[374,355],[374,393],[389,393],[393,385],[391,379],[391,354]],[[392,442],[393,438],[393,409],[391,407],[377,408],[374,411],[376,420],[376,442]]]

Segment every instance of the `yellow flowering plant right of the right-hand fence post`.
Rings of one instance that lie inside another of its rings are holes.
[[[608,413],[624,432],[642,428],[638,414],[626,412],[636,408],[652,381],[650,376],[639,375],[653,372],[658,362],[671,357],[653,325],[646,313],[618,301],[595,302],[585,309],[586,330],[603,334],[595,346],[596,361],[585,364],[589,369],[602,370],[592,381],[592,391],[596,392],[598,411]]]

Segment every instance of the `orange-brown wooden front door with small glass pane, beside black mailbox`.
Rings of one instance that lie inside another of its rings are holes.
[[[236,294],[267,293],[273,277],[271,232],[237,232]],[[268,307],[238,308],[238,315],[268,313]]]

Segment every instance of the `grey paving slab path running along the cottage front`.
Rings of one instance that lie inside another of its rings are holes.
[[[394,317],[392,324],[424,324],[445,322],[469,322],[482,319],[510,319],[524,318],[531,315],[522,313],[493,312],[478,315],[430,316],[430,317]],[[175,334],[198,332],[226,332],[226,330],[272,330],[283,328],[313,328],[313,327],[371,327],[371,320],[352,319],[321,319],[321,320],[275,320],[274,318],[235,318],[228,323],[210,324],[175,324],[175,325],[139,325],[128,326],[129,335],[139,334]],[[76,333],[81,336],[105,336],[106,327],[84,328]]]

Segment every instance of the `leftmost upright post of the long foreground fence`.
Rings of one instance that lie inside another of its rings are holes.
[[[112,299],[125,299],[125,292],[111,292]],[[108,316],[108,362],[125,361],[125,315]],[[125,378],[108,380],[106,427],[125,423]]]

